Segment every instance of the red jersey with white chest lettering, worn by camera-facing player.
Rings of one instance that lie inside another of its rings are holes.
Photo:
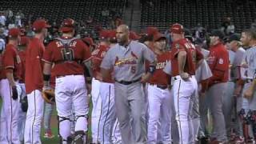
[[[170,84],[170,76],[163,72],[163,69],[166,67],[166,63],[170,60],[170,53],[165,52],[163,54],[156,54],[158,62],[156,64],[156,70],[154,74],[150,78],[150,84],[156,85],[169,85]]]

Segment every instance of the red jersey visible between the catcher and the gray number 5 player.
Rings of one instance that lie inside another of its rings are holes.
[[[102,74],[101,74],[100,66],[102,63],[102,59],[105,57],[106,52],[109,49],[110,49],[110,46],[100,45],[98,47],[98,49],[94,50],[92,53],[91,62],[92,62],[94,78],[101,80],[101,81],[102,81]],[[104,80],[104,82],[113,83],[114,80],[113,80],[113,78],[108,78],[108,79]]]

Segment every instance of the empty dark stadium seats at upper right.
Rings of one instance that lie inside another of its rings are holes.
[[[151,3],[150,3],[151,2]],[[187,28],[200,23],[202,26],[218,28],[223,18],[230,17],[237,31],[250,27],[256,18],[255,1],[243,1],[236,6],[230,0],[150,0],[141,3],[141,27],[158,26],[166,30],[170,24],[180,22]]]

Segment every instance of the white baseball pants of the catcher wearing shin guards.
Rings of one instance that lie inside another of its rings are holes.
[[[86,82],[83,75],[66,75],[56,78],[55,100],[59,118],[59,134],[63,143],[66,143],[71,134],[70,115],[72,108],[76,120],[74,130],[87,132],[89,110],[87,97]]]

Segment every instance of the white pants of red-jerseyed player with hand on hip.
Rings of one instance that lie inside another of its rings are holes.
[[[190,118],[190,107],[193,105],[193,95],[196,94],[198,83],[194,76],[184,81],[180,76],[174,77],[174,107],[180,144],[193,144],[193,123]]]

